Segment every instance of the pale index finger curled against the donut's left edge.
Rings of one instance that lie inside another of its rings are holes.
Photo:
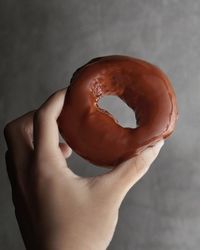
[[[42,157],[60,152],[57,118],[61,113],[66,89],[57,91],[35,112],[34,148]]]

